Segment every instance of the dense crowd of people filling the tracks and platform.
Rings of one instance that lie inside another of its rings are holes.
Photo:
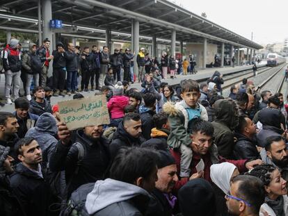
[[[60,93],[60,74],[67,69],[73,80],[77,67],[60,66],[75,53],[72,44],[70,53],[59,46],[53,56],[45,51],[43,63],[59,60]],[[206,83],[185,79],[173,88],[145,65],[137,90],[121,82],[117,51],[112,57],[103,52],[97,78],[104,85],[90,85],[105,95],[110,124],[70,131],[49,102],[51,89],[40,83],[30,101],[15,99],[14,113],[0,112],[0,215],[288,214],[288,105],[280,92],[259,92],[244,78],[224,98],[219,72]],[[81,65],[93,55],[84,49]],[[83,98],[75,93],[73,99]]]

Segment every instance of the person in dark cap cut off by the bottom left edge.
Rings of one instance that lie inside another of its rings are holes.
[[[8,175],[13,173],[9,156],[10,147],[0,145],[0,215],[17,216],[25,215],[8,181]]]

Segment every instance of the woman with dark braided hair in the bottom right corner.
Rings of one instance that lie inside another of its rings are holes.
[[[259,165],[248,172],[264,183],[266,191],[265,203],[260,208],[259,215],[284,216],[288,214],[288,197],[286,181],[279,170],[272,165]]]

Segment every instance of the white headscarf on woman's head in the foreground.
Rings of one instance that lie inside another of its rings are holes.
[[[237,167],[232,163],[219,163],[211,165],[210,177],[211,180],[227,194],[230,190],[230,179]]]

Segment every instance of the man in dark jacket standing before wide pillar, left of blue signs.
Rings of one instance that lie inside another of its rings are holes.
[[[49,62],[54,58],[54,56],[50,56],[49,47],[50,47],[50,40],[46,38],[43,41],[43,46],[40,47],[37,51],[37,54],[39,55],[42,65],[40,73],[40,86],[42,87],[46,86]]]

